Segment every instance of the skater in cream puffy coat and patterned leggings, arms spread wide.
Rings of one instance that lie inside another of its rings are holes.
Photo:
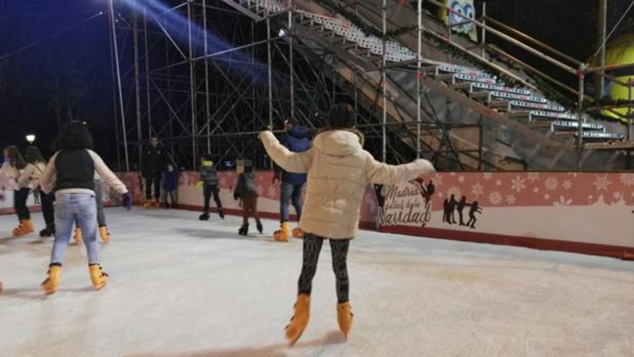
[[[368,183],[388,185],[434,172],[427,160],[391,166],[378,162],[363,150],[363,134],[354,130],[354,109],[339,104],[328,114],[330,129],[317,134],[310,150],[290,152],[271,131],[261,133],[266,152],[289,172],[307,172],[304,212],[299,222],[304,234],[304,258],[299,276],[295,315],[286,327],[286,337],[295,344],[309,318],[313,276],[321,245],[330,240],[332,265],[337,280],[337,322],[347,336],[353,323],[348,299],[347,254],[359,226],[359,209]]]

